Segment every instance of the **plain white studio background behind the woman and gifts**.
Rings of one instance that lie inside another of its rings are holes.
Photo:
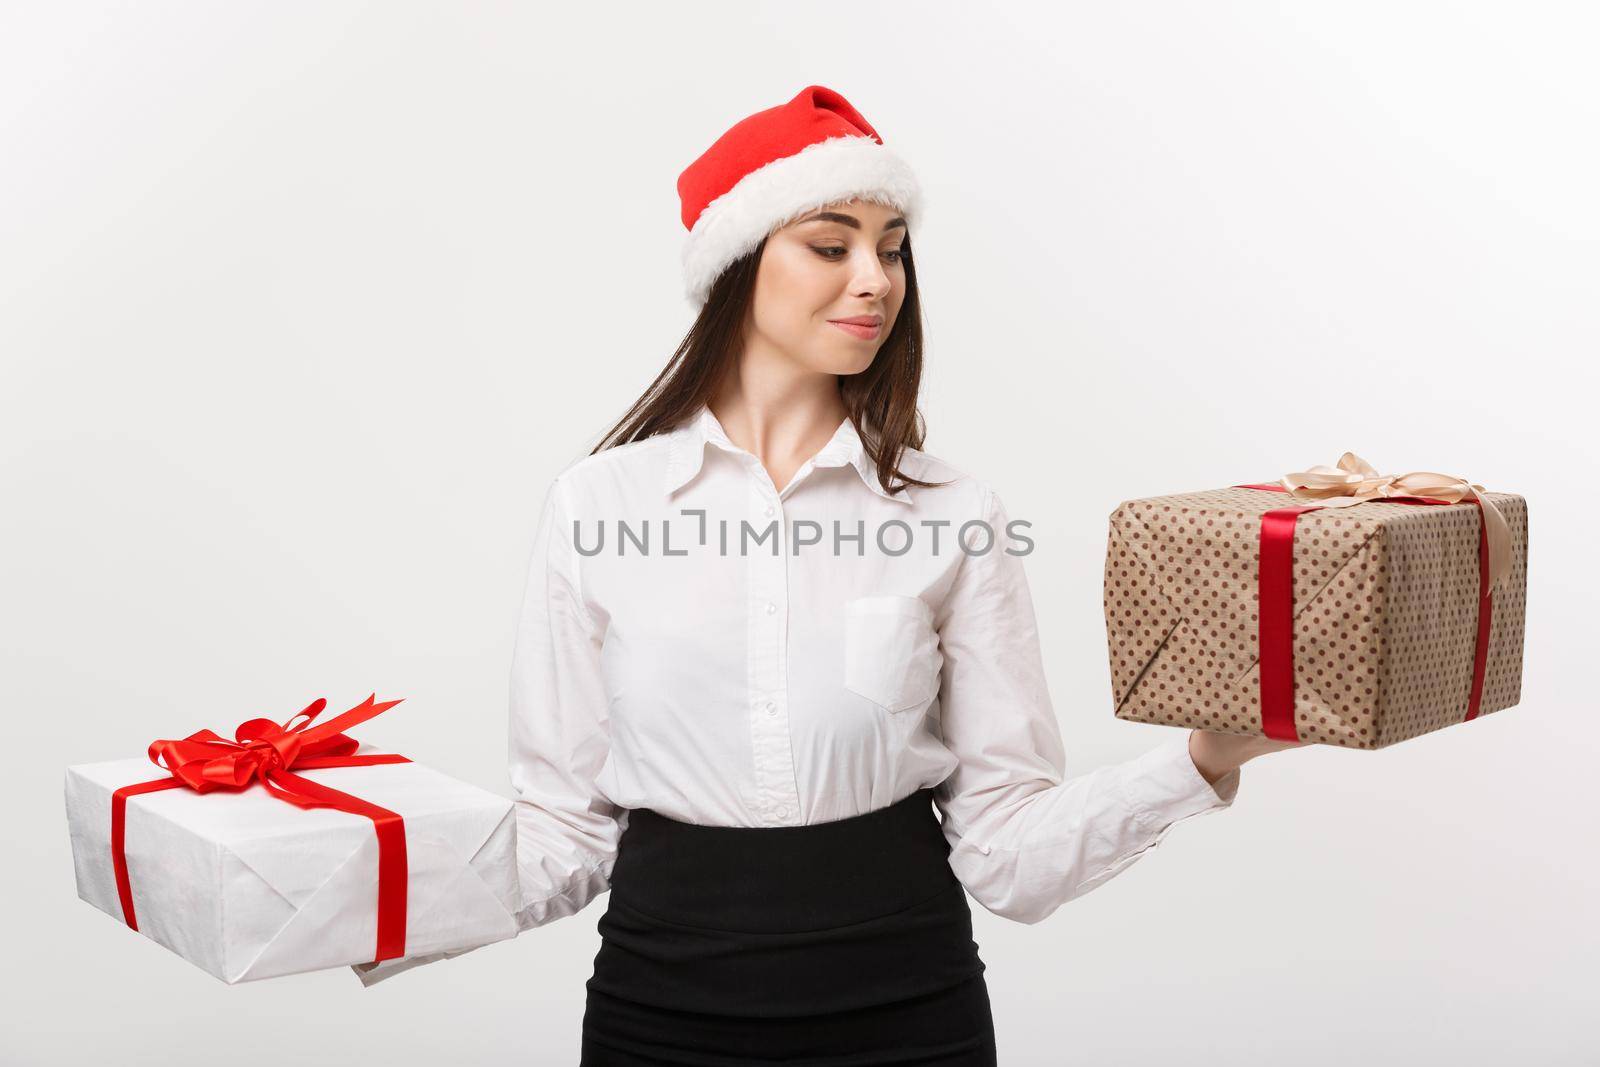
[[[376,689],[365,739],[509,793],[542,490],[691,320],[677,174],[821,83],[926,187],[928,451],[1034,523],[1072,774],[1166,739],[1112,715],[1120,501],[1346,450],[1530,501],[1522,705],[1254,761],[1038,926],[974,904],[1002,1064],[1597,1062],[1597,30],[6,3],[0,1056],[576,1062],[602,904],[370,990],[227,987],[77,899],[62,773]]]

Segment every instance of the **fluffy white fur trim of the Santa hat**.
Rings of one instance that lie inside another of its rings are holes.
[[[699,307],[717,277],[762,238],[798,214],[840,200],[899,208],[907,224],[922,213],[910,166],[872,138],[829,138],[758,166],[706,205],[683,245],[683,282]]]

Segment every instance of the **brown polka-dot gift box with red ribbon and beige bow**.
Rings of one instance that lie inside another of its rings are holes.
[[[1346,453],[1123,501],[1104,608],[1118,718],[1382,749],[1522,694],[1528,506]]]

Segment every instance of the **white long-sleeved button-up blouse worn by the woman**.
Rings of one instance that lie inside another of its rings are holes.
[[[630,808],[802,825],[934,787],[955,877],[1037,923],[1232,805],[1187,729],[1064,776],[1027,523],[928,453],[901,469],[949,485],[883,493],[845,419],[779,490],[702,406],[555,477],[512,662],[522,929],[610,888]]]

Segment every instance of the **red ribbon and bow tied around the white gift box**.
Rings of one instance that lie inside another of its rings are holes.
[[[405,955],[405,905],[406,905],[406,854],[405,821],[360,797],[328,789],[290,768],[315,769],[325,766],[373,766],[378,763],[410,763],[403,755],[355,755],[360,742],[347,737],[346,728],[365,723],[387,712],[400,701],[376,702],[376,693],[350,710],[312,726],[328,701],[317,697],[299,715],[282,726],[270,718],[251,718],[234,731],[234,741],[219,737],[210,729],[200,729],[182,741],[152,741],[150,761],[171,774],[149,782],[123,785],[110,795],[110,862],[117,872],[117,896],[122,899],[122,917],[133,929],[139,928],[133,913],[133,886],[128,881],[128,861],[123,856],[128,797],[154,793],[162,789],[187,785],[197,793],[218,789],[238,792],[259,781],[278,800],[299,808],[334,808],[373,821],[378,833],[378,955],[373,960],[394,960]],[[306,721],[294,725],[296,718]]]

